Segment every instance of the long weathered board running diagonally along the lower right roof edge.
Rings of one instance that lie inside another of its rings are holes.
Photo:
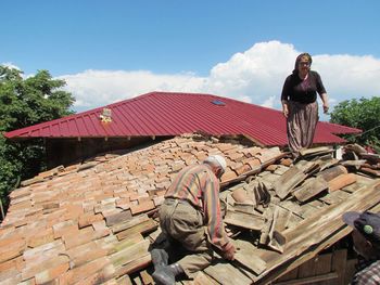
[[[265,283],[274,280],[274,276],[279,276],[283,269],[281,270],[281,264],[286,264],[289,260],[296,258],[296,261],[302,260],[303,255],[308,255],[307,250],[313,250],[309,252],[311,256],[315,256],[319,248],[318,245],[325,246],[329,245],[330,242],[337,242],[339,237],[346,235],[351,232],[343,221],[342,215],[345,211],[363,211],[370,209],[380,202],[380,180],[375,181],[370,186],[358,191],[352,198],[333,206],[329,206],[321,211],[317,211],[315,216],[302,221],[299,226],[290,229],[283,232],[287,236],[287,247],[282,255],[271,252],[271,251],[259,251],[257,249],[256,254],[259,255],[266,262],[267,269],[263,272],[257,281],[259,283]],[[312,247],[313,246],[313,247]],[[319,249],[320,250],[320,249]],[[306,260],[308,260],[307,258]],[[292,261],[292,264],[297,263]],[[300,264],[300,263],[299,263]],[[289,268],[289,267],[288,267]],[[288,268],[284,270],[287,271]],[[292,268],[290,268],[291,270]],[[269,275],[266,278],[264,276]]]

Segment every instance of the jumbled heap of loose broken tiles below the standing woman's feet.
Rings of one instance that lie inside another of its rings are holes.
[[[281,232],[296,226],[315,211],[304,205],[312,199],[313,205],[344,199],[350,196],[349,185],[357,181],[357,176],[343,166],[350,161],[342,165],[331,153],[328,147],[303,151],[301,159],[271,164],[256,177],[225,191],[221,194],[228,205],[225,222],[256,231],[257,245],[283,252],[286,238]],[[346,192],[337,192],[341,189]]]

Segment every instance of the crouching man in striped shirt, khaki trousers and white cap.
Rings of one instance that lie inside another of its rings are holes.
[[[183,168],[165,194],[160,209],[160,225],[169,248],[151,251],[156,284],[175,284],[176,276],[206,268],[213,259],[213,246],[233,260],[236,248],[226,235],[219,202],[219,178],[227,167],[220,155],[208,156],[203,164]],[[176,263],[175,254],[186,251]],[[169,254],[168,254],[169,252]]]

